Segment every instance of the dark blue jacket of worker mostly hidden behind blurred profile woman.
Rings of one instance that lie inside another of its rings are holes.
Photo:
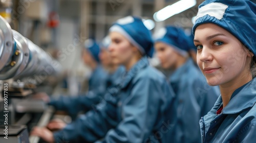
[[[56,110],[67,111],[74,119],[78,112],[87,112],[96,108],[96,105],[103,99],[102,97],[106,92],[106,89],[116,84],[119,81],[119,78],[124,74],[124,71],[124,67],[118,67],[117,70],[114,73],[110,73],[107,78],[101,77],[101,81],[98,82],[102,82],[101,84],[104,87],[94,87],[94,89],[89,90],[87,94],[78,95],[76,97],[60,96],[57,99],[51,99],[48,105],[54,106]],[[101,72],[97,73],[99,74]],[[102,76],[105,75],[103,74]]]

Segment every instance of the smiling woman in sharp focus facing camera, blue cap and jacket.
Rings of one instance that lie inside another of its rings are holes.
[[[256,140],[256,5],[247,0],[205,1],[193,27],[197,63],[221,96],[200,120],[202,142]]]

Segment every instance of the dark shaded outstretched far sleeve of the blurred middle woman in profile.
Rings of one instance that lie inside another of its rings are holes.
[[[63,130],[55,132],[55,142],[94,142],[117,126],[116,100],[114,97],[102,100],[95,110],[91,110],[67,125]]]

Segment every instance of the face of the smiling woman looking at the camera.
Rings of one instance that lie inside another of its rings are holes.
[[[225,29],[212,23],[200,25],[194,43],[198,49],[197,64],[209,85],[232,84],[248,75],[251,55]]]

